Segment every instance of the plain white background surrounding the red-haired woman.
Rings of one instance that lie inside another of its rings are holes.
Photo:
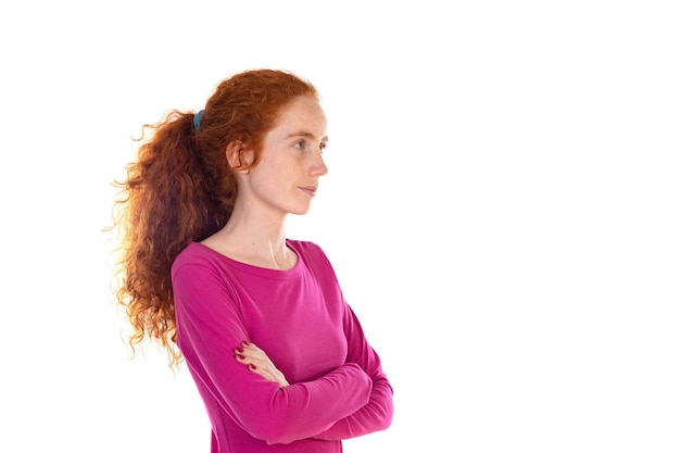
[[[329,118],[319,243],[393,383],[362,452],[680,451],[672,1],[0,7],[2,452],[207,452],[110,293],[131,136],[286,68]]]

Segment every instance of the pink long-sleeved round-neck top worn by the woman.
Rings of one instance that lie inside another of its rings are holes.
[[[173,265],[177,344],[212,424],[212,453],[341,452],[386,429],[392,388],[320,248],[288,240],[290,270],[239,263],[192,242]],[[279,385],[235,358],[255,343]]]

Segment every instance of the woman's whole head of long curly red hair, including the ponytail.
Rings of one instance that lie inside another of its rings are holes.
[[[319,100],[312,84],[289,72],[245,71],[217,85],[197,118],[198,129],[196,113],[177,110],[143,126],[126,179],[112,183],[117,189],[113,224],[104,228],[117,231],[113,293],[131,327],[133,352],[150,340],[167,350],[171,367],[182,361],[172,264],[190,242],[213,235],[231,215],[238,188],[226,159],[228,143],[250,146],[255,152],[250,166],[256,165],[265,134],[301,96]]]

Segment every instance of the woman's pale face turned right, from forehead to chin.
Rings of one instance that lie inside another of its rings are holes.
[[[265,135],[260,162],[239,187],[253,206],[281,214],[306,214],[328,172],[322,152],[328,141],[326,115],[311,97],[299,97],[284,108]]]

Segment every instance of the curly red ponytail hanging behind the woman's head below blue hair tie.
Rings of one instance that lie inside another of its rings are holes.
[[[191,241],[201,241],[226,224],[229,206],[215,203],[194,140],[194,114],[169,112],[146,125],[151,139],[126,166],[114,203],[114,225],[122,234],[116,249],[121,279],[116,299],[133,327],[135,350],[146,337],[159,340],[178,365],[171,267]],[[140,140],[144,139],[143,134]]]

